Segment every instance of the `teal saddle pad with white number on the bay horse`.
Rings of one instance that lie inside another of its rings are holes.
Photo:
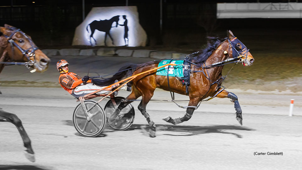
[[[158,67],[165,64],[169,64],[171,60],[162,60],[159,62]],[[184,60],[172,60],[171,64],[183,64]],[[168,66],[157,69],[156,75],[167,76]],[[170,66],[169,67],[169,76],[172,77],[184,77],[183,66]]]

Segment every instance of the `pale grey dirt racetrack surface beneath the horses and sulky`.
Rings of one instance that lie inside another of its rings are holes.
[[[51,58],[50,69],[43,74],[29,74],[19,66],[5,67],[0,80],[56,82],[58,58]],[[81,61],[65,58],[74,63],[72,70],[77,72],[75,68],[81,66]],[[104,67],[112,60],[109,58],[102,58]],[[142,60],[146,59],[135,61],[141,63]],[[111,73],[119,67],[98,72]],[[79,74],[85,75],[87,70],[82,69]],[[21,74],[25,71],[26,74]],[[136,119],[128,130],[114,131],[106,127],[100,136],[86,138],[79,136],[72,124],[72,113],[78,103],[63,89],[1,87],[0,108],[17,114],[22,120],[36,153],[36,162],[25,159],[23,143],[14,125],[1,122],[0,170],[302,169],[302,96],[230,91],[238,96],[242,106],[243,126],[236,121],[233,103],[228,99],[202,103],[188,122],[177,126],[162,118],[183,116],[184,109],[173,103],[151,101],[147,111],[156,123],[157,136],[149,138],[141,128],[147,122],[137,110],[139,102],[134,102]],[[127,94],[129,92],[120,91],[118,96]],[[156,90],[153,99],[169,100],[169,97],[169,92]],[[295,116],[290,117],[291,98],[296,103]],[[176,95],[176,99],[187,98]],[[106,101],[101,103],[102,107]],[[186,102],[180,104],[187,105]],[[255,152],[265,155],[254,155]],[[268,155],[270,152],[282,155]]]

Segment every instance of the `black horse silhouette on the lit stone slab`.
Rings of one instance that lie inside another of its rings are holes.
[[[115,27],[117,27],[118,21],[120,20],[119,17],[120,17],[120,15],[114,16],[109,20],[107,20],[107,19],[100,20],[100,21],[94,20],[94,21],[92,21],[92,23],[88,24],[87,27],[86,27],[86,30],[88,31],[88,26],[89,26],[90,30],[91,30],[90,44],[92,45],[91,38],[93,38],[93,34],[95,33],[95,30],[105,32],[105,40],[104,40],[105,46],[107,46],[106,45],[107,35],[109,35],[109,37],[111,38],[112,44],[114,44],[114,41],[113,41],[113,39],[110,35],[110,29],[112,28],[113,22],[116,23]],[[95,40],[95,38],[93,38],[93,39],[94,39],[95,45],[96,45],[96,40]]]

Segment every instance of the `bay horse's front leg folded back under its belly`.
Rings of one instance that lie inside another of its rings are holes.
[[[196,98],[190,100],[185,116],[179,117],[176,119],[172,119],[171,116],[168,116],[168,117],[164,118],[163,120],[165,120],[166,122],[172,123],[174,125],[188,121],[189,119],[191,119],[193,112],[194,112],[196,106],[198,105],[199,101],[200,101],[200,99],[196,99]]]

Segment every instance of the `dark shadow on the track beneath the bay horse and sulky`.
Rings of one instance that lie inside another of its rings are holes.
[[[66,125],[73,126],[71,120],[66,120]],[[124,131],[131,130],[142,130],[143,133],[148,133],[150,127],[144,124],[133,124],[130,128]],[[221,133],[221,134],[231,134],[236,136],[237,138],[243,138],[242,135],[235,132],[226,132],[226,130],[243,130],[243,131],[255,131],[255,129],[244,127],[244,126],[235,126],[235,125],[214,125],[214,126],[187,126],[187,125],[156,125],[157,132],[167,132],[162,135],[167,136],[194,136],[205,133]],[[105,125],[104,131],[97,137],[106,137],[108,136],[106,133],[116,132],[108,126]],[[172,133],[171,133],[172,132]],[[175,134],[173,134],[175,132]],[[78,136],[80,136],[78,134]]]

